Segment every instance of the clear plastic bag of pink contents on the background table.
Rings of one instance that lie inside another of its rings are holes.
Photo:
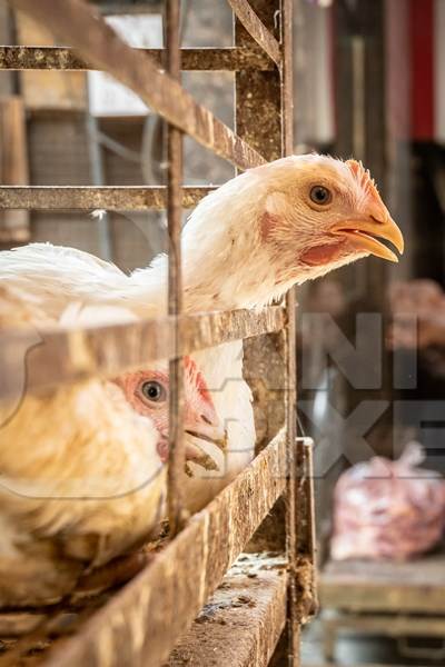
[[[372,458],[344,472],[334,491],[332,557],[405,560],[441,541],[445,482],[417,466],[424,452],[411,442],[392,461]]]

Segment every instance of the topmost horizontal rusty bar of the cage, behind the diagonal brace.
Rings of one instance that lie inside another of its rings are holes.
[[[137,49],[162,62],[164,49]],[[181,49],[181,69],[195,71],[270,70],[275,64],[263,49]],[[0,70],[89,70],[88,63],[65,47],[0,47]]]

